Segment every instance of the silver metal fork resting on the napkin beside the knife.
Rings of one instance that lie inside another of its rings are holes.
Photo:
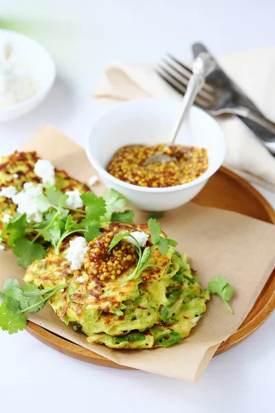
[[[184,95],[186,85],[192,75],[192,70],[181,61],[175,59],[171,54],[167,54],[162,64],[156,70],[168,85],[173,87],[179,94]],[[272,134],[275,134],[275,123],[254,112],[248,107],[234,103],[232,93],[226,89],[219,89],[209,82],[206,82],[201,92],[197,95],[195,104],[206,110],[212,116],[222,114],[234,114],[248,118],[261,127],[265,127]],[[269,142],[275,142],[275,136],[268,139]]]

